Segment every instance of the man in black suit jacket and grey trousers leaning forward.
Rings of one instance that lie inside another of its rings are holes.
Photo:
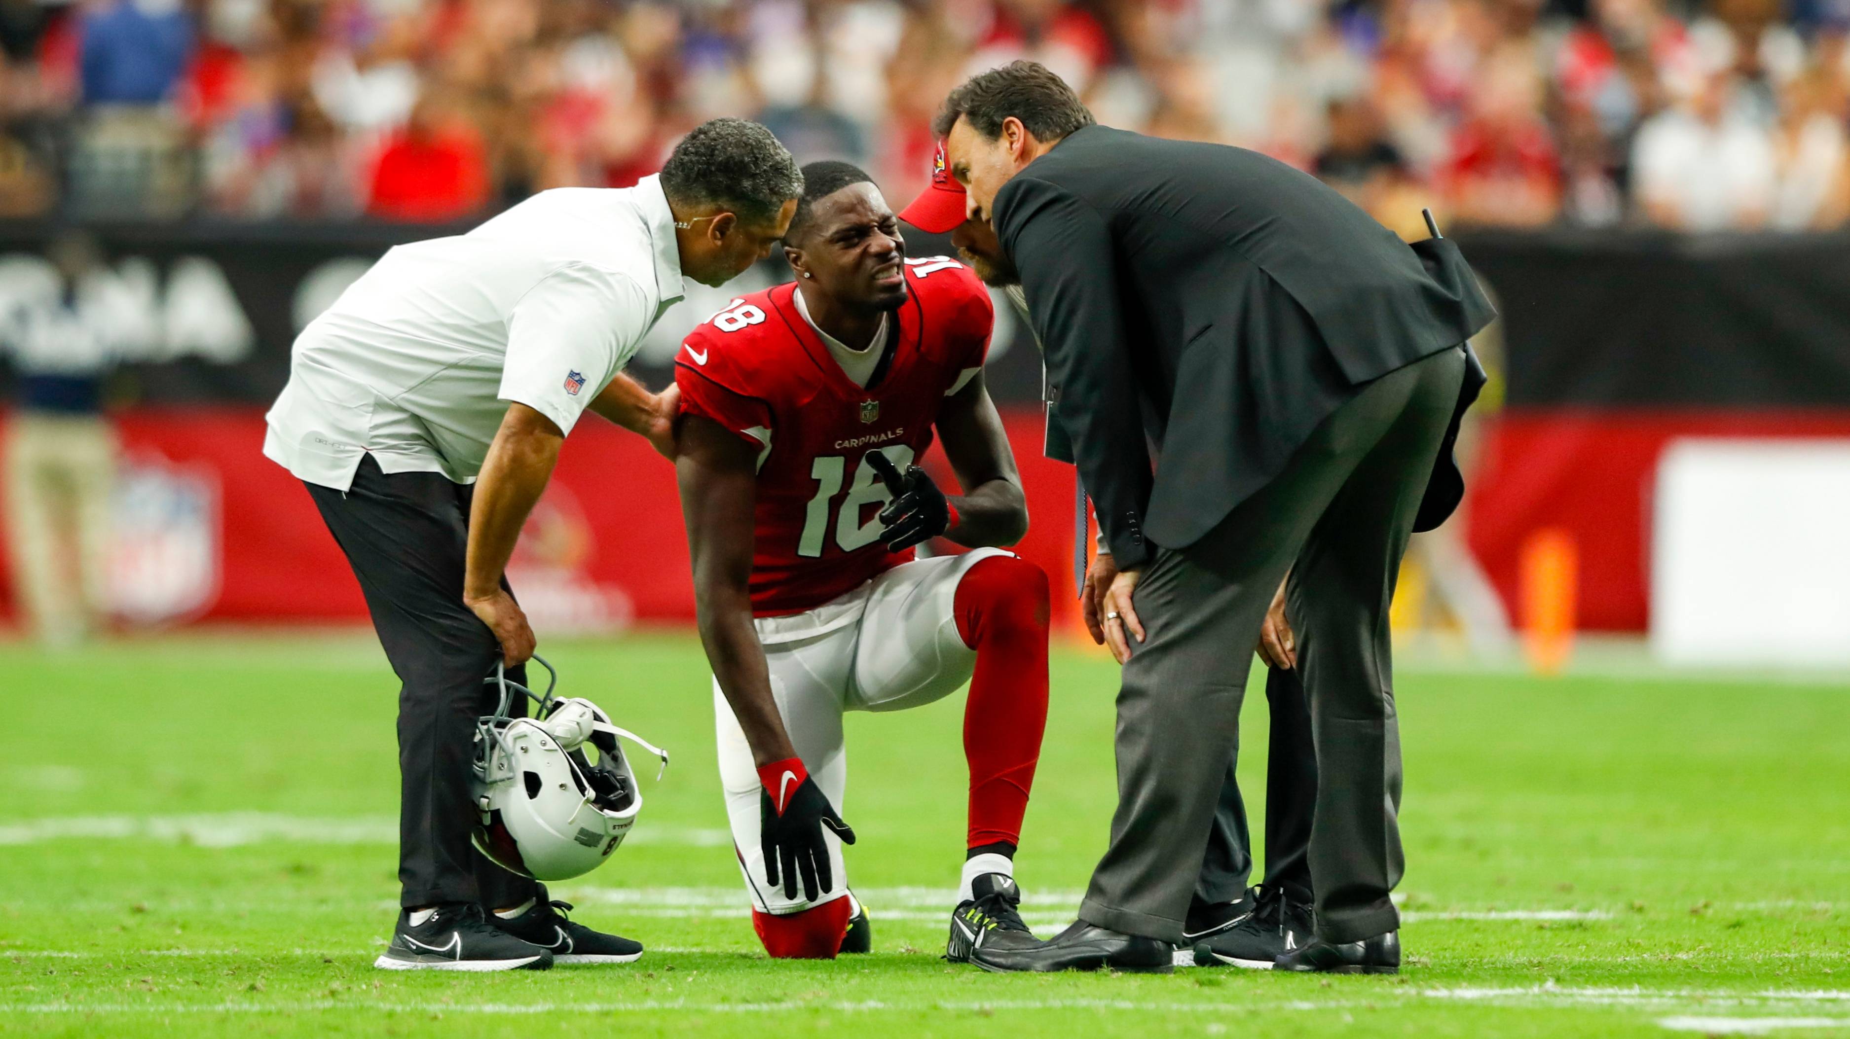
[[[1095,126],[1034,63],[966,81],[938,131],[1027,290],[1117,568],[1101,608],[1125,666],[1119,804],[1080,921],[977,963],[1169,969],[1245,653],[1282,597],[1317,747],[1317,937],[1278,965],[1395,971],[1388,605],[1408,536],[1462,494],[1449,438],[1482,385],[1463,342],[1489,303],[1450,242],[1410,248],[1254,152]]]

